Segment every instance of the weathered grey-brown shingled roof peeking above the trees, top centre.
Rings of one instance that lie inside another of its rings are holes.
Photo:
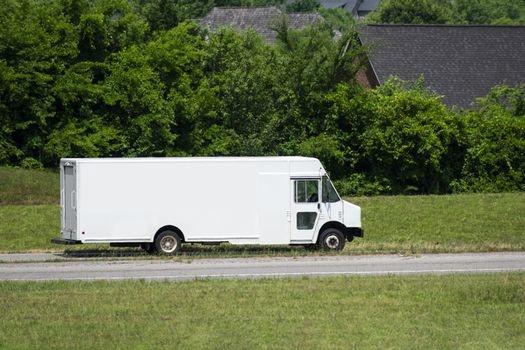
[[[200,24],[215,32],[222,27],[238,30],[254,29],[266,42],[275,43],[277,33],[271,29],[272,21],[283,13],[276,7],[214,7]],[[322,21],[316,13],[289,13],[288,25],[293,29],[303,29]]]

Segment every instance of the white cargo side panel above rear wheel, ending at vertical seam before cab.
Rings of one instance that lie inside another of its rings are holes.
[[[255,172],[207,163],[83,164],[86,240],[144,240],[175,225],[186,240],[256,239]],[[84,181],[89,179],[89,181]]]

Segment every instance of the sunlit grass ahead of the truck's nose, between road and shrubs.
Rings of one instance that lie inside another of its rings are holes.
[[[353,250],[459,252],[525,249],[525,193],[360,197],[368,233]]]

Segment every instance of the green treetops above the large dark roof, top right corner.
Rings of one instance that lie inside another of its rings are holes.
[[[384,0],[368,23],[525,24],[525,2],[515,0]]]

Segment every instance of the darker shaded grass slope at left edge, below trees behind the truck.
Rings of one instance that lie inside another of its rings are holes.
[[[58,173],[0,167],[0,205],[58,204]]]

